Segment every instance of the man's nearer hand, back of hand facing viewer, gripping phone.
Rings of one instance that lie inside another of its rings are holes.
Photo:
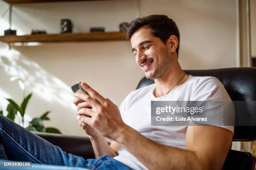
[[[87,115],[81,117],[80,121],[90,125],[100,135],[116,141],[120,133],[123,133],[127,127],[121,118],[118,107],[85,82],[82,82],[81,86],[89,95],[75,93],[74,96],[87,102],[92,108],[82,107],[78,110],[77,115]]]

